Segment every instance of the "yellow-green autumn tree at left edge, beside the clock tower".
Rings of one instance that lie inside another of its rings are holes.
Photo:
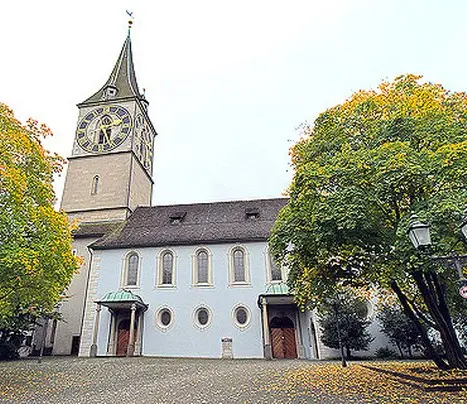
[[[78,269],[67,217],[53,207],[63,160],[43,148],[49,135],[0,103],[0,329],[51,312]]]

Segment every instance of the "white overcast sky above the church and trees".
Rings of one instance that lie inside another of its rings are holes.
[[[467,90],[462,0],[4,0],[0,101],[46,123],[49,150],[70,155],[76,104],[107,80],[125,9],[159,133],[154,204],[280,196],[296,128],[383,79]]]

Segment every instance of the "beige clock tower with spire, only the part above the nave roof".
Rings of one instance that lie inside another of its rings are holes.
[[[123,220],[150,205],[156,131],[140,93],[130,31],[104,86],[78,104],[61,208],[80,222]]]

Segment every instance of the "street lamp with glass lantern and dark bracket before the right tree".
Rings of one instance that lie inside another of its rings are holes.
[[[412,215],[411,223],[408,228],[409,239],[412,242],[415,249],[423,251],[431,246],[431,237],[430,237],[430,225],[427,223],[420,222],[416,215]],[[464,218],[461,225],[459,226],[464,239],[467,240],[467,210],[464,212]],[[459,283],[461,285],[460,293],[462,297],[467,297],[463,295],[463,288],[466,288],[465,284],[467,279],[464,277],[462,272],[462,266],[467,264],[467,255],[458,255],[456,253],[451,253],[450,255],[430,255],[430,259],[433,261],[441,262],[446,267],[453,267],[457,270],[459,276]]]

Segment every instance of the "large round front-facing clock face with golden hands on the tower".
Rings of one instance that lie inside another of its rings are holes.
[[[119,105],[98,107],[78,123],[78,145],[90,153],[105,153],[120,146],[131,131],[131,115]]]

